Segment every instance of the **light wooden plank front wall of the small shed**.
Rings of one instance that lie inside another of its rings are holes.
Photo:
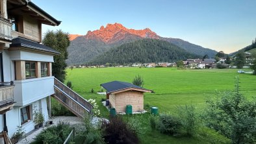
[[[140,91],[124,91],[115,94],[116,112],[125,112],[126,106],[131,104],[133,112],[144,110],[144,95]]]

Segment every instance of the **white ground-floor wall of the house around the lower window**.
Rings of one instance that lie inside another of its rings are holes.
[[[45,121],[48,121],[48,112],[47,112],[47,101],[46,98],[41,99],[39,101],[32,102],[31,104],[31,120],[27,123],[21,125],[21,117],[20,117],[20,109],[24,106],[14,106],[14,108],[8,112],[6,112],[6,125],[8,127],[8,136],[12,137],[16,132],[17,126],[22,126],[24,128],[25,133],[31,132],[34,130],[34,122],[33,122],[33,112],[38,110],[38,112],[42,112],[44,115]],[[0,115],[0,131],[3,130],[3,115]]]

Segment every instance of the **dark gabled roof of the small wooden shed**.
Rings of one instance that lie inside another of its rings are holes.
[[[144,91],[144,92],[153,92],[152,90],[147,90],[140,86],[136,86],[136,85],[128,83],[128,82],[120,82],[120,81],[107,82],[107,83],[101,84],[101,86],[103,88],[105,88],[108,91],[108,93],[113,93],[116,91],[128,90],[128,89]]]

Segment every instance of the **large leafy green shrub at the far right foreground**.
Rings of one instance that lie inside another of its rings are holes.
[[[217,93],[207,100],[205,120],[233,143],[256,143],[256,99],[249,101],[240,93],[239,78],[235,91]]]

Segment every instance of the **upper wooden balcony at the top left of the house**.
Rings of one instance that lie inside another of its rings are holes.
[[[5,18],[0,18],[0,39],[12,40],[12,23]]]

